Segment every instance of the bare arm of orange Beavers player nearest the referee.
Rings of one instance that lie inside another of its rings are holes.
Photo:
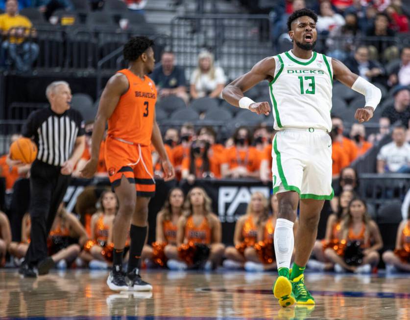
[[[108,80],[99,101],[93,135],[91,136],[91,159],[81,170],[84,178],[92,178],[97,169],[99,147],[104,136],[105,124],[117,107],[121,96],[127,92],[129,83],[127,77],[117,73]]]

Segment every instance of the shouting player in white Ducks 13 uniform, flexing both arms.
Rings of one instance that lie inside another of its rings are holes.
[[[314,304],[306,290],[303,271],[316,240],[317,225],[325,200],[333,198],[332,83],[339,80],[365,96],[365,106],[355,118],[368,121],[381,99],[381,91],[352,73],[340,61],[313,51],[316,43],[317,15],[301,9],[290,15],[289,36],[293,49],[258,62],[251,71],[228,84],[223,98],[237,107],[267,115],[267,102],[254,102],[243,95],[262,80],[269,81],[274,129],[272,178],[273,192],[279,200],[274,246],[279,277],[273,287],[279,304],[287,307]],[[296,240],[292,227],[300,199]],[[296,255],[291,272],[293,246]]]

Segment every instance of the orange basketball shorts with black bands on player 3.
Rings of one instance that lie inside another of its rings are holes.
[[[138,197],[155,194],[154,170],[149,146],[107,137],[105,141],[105,164],[112,187],[118,187],[122,176],[135,184]]]

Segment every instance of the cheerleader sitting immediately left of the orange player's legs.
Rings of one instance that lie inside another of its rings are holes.
[[[92,239],[84,245],[81,259],[89,263],[91,269],[105,269],[111,266],[110,234],[115,215],[119,208],[117,195],[103,191],[99,199],[100,211],[91,217]]]

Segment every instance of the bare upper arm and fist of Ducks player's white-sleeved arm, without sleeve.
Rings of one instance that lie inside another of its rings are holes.
[[[338,59],[332,58],[332,68],[333,77],[349,88],[351,88],[359,78],[357,74],[350,71],[350,69]],[[357,119],[359,122],[369,121],[373,117],[373,112],[374,108],[370,106],[358,108],[355,113],[355,119]]]

